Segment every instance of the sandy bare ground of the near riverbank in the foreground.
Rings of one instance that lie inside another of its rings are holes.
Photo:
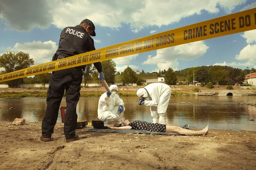
[[[210,126],[211,127],[211,126]],[[256,132],[209,130],[201,136],[164,136],[77,130],[66,143],[63,124],[42,142],[41,122],[0,122],[0,169],[26,170],[253,170]]]

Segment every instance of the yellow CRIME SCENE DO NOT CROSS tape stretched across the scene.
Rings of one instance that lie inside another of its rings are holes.
[[[2,74],[0,75],[0,82],[253,29],[256,29],[256,8]]]

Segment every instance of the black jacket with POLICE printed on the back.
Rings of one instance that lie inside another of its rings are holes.
[[[94,41],[82,26],[66,27],[61,31],[60,42],[56,55],[71,57],[95,50]],[[102,71],[101,62],[93,63],[97,71]]]

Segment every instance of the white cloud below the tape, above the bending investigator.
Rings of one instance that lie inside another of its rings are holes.
[[[157,64],[158,70],[172,68],[177,70],[178,59],[193,60],[203,56],[209,47],[204,41],[192,42],[188,44],[178,45],[169,48],[157,50],[154,57],[148,56],[143,64]]]

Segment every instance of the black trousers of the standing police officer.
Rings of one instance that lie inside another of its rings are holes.
[[[64,122],[64,134],[66,139],[75,136],[77,124],[76,105],[80,97],[81,82],[81,67],[52,72],[47,91],[47,108],[42,122],[42,135],[44,137],[50,138],[52,136],[65,90],[67,110]]]

